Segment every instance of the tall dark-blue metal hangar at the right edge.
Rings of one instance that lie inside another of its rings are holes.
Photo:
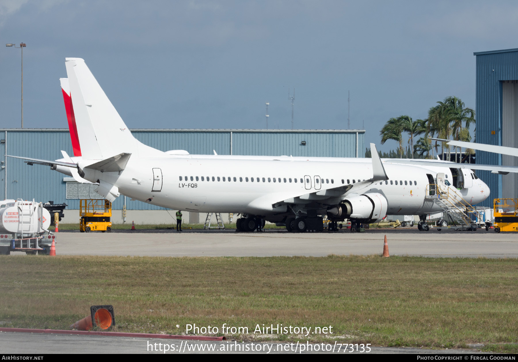
[[[518,49],[473,53],[477,59],[476,141],[518,147]],[[518,166],[518,157],[477,151],[478,164]],[[518,174],[478,171],[493,198],[518,197]]]

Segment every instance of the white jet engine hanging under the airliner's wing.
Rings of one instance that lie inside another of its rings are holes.
[[[387,212],[387,199],[377,192],[349,197],[338,206],[327,210],[330,220],[355,219],[377,223]]]

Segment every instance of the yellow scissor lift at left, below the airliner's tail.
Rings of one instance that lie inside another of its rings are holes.
[[[111,202],[103,199],[79,200],[79,231],[111,232]]]

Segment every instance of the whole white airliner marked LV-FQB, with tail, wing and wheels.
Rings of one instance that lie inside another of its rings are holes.
[[[114,201],[121,194],[170,209],[234,212],[237,228],[255,229],[258,219],[284,223],[290,231],[321,230],[327,215],[349,219],[351,231],[385,215],[426,215],[442,209],[429,199],[436,184],[471,204],[490,195],[471,169],[384,163],[375,144],[372,158],[190,155],[163,152],[139,142],[82,59],[67,58],[62,90],[74,156],[56,161],[11,156],[27,164],[49,165],[78,182],[96,183],[96,192]],[[330,164],[333,162],[333,164]],[[480,165],[473,165],[480,166]],[[472,167],[473,169],[476,167]],[[452,182],[449,182],[451,180]]]

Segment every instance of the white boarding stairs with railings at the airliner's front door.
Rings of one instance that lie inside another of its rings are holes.
[[[441,188],[437,184],[429,184],[426,187],[426,198],[433,200],[453,221],[453,226],[450,228],[474,230],[478,227],[476,220],[479,211],[451,187]]]

